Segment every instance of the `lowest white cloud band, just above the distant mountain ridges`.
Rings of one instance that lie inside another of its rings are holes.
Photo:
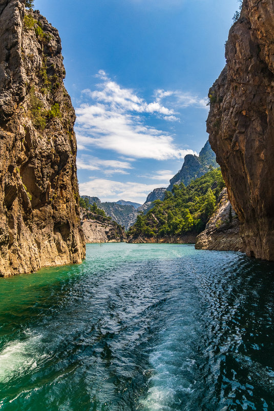
[[[164,183],[165,184],[165,183]],[[163,184],[159,184],[163,187]],[[107,179],[95,179],[79,184],[81,195],[99,197],[101,201],[118,201],[125,199],[136,203],[144,203],[147,194],[154,190],[155,184],[141,184],[135,182],[121,183]]]

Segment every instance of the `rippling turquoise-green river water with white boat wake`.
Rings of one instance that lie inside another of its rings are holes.
[[[0,280],[0,409],[274,410],[274,264],[98,244]]]

